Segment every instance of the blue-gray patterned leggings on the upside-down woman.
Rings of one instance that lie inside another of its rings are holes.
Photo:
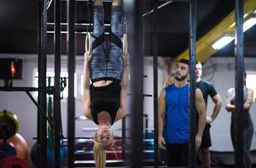
[[[111,32],[117,39],[122,37],[121,7],[115,6],[111,10]],[[104,8],[94,6],[93,11],[93,41],[104,34]],[[111,36],[110,36],[111,38]],[[122,48],[109,43],[109,49],[105,49],[104,42],[93,49],[93,58],[90,61],[90,77],[92,81],[99,81],[101,78],[112,78],[121,80],[124,61],[122,59]]]

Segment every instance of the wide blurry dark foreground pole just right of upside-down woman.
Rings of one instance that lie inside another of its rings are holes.
[[[128,18],[131,47],[131,167],[142,166],[143,150],[143,50],[142,50],[142,1],[124,1]]]

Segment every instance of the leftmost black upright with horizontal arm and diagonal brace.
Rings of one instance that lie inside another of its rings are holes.
[[[37,160],[40,168],[47,167],[47,136],[46,120],[54,126],[49,118],[46,117],[46,57],[47,57],[47,1],[42,0],[38,3],[38,83],[39,87],[0,87],[4,92],[26,92],[32,102],[37,107]],[[38,102],[30,92],[38,91]]]

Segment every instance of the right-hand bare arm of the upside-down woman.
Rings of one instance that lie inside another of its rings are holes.
[[[120,92],[120,108],[118,113],[116,114],[115,121],[124,118],[126,115],[126,107],[127,107],[127,92],[128,92],[128,81],[129,81],[129,65],[128,65],[128,54],[123,54],[124,60],[124,69],[121,79],[121,92]]]

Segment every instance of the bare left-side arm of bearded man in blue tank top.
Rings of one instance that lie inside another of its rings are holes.
[[[166,100],[165,100],[165,91],[163,89],[158,100],[158,146],[163,150],[166,150],[166,148],[164,147],[165,140],[163,139],[163,126],[165,124],[165,113],[166,113]]]

